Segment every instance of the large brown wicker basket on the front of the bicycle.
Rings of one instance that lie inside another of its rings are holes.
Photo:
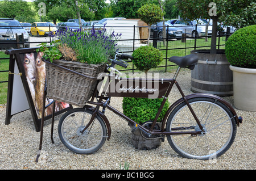
[[[105,64],[89,65],[66,60],[54,60],[51,64],[46,61],[48,98],[83,107],[96,89],[98,74],[105,68]]]

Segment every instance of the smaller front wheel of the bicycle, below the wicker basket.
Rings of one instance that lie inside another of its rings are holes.
[[[106,125],[100,116],[84,132],[93,111],[75,108],[66,112],[60,119],[58,132],[61,142],[78,154],[90,154],[102,147],[106,141]]]

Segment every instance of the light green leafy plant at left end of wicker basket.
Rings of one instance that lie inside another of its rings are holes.
[[[43,58],[52,62],[52,60],[57,60],[62,57],[60,50],[57,48],[58,46],[52,46],[53,44],[58,44],[57,41],[52,41],[50,43],[50,47],[47,43],[41,43],[40,48],[36,49],[36,52],[44,52]]]

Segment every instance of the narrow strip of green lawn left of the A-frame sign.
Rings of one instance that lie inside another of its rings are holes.
[[[5,52],[0,51],[0,58],[8,58],[7,60],[0,60],[0,71],[9,70],[9,56]],[[8,81],[8,75],[8,71],[0,72],[0,82]],[[0,105],[6,104],[7,86],[8,82],[0,83]]]

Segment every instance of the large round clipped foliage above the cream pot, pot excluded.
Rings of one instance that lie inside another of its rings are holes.
[[[256,68],[256,25],[241,28],[226,41],[225,54],[233,66]]]

